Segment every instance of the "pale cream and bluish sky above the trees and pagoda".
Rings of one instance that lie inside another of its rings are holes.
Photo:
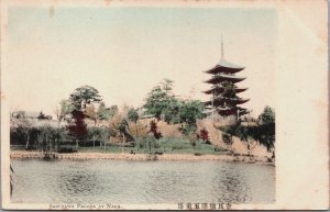
[[[8,12],[10,109],[53,113],[77,87],[97,88],[107,105],[141,107],[163,78],[201,101],[204,70],[221,57],[245,69],[240,97],[257,115],[275,107],[277,14],[274,9],[50,8]]]

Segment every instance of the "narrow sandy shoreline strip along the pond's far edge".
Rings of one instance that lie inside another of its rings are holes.
[[[231,156],[231,155],[190,155],[190,154],[129,154],[129,153],[55,153],[54,159],[112,159],[112,160],[222,160],[222,161],[241,161],[246,164],[268,164],[274,165],[274,161],[268,161],[266,157],[253,156],[252,159],[248,156]],[[43,158],[43,154],[38,152],[28,150],[11,150],[11,159],[28,159]]]

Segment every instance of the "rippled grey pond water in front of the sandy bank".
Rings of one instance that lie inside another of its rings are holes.
[[[275,167],[227,161],[12,159],[12,202],[272,203]]]

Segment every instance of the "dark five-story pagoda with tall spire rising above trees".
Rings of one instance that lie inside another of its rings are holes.
[[[249,101],[237,96],[239,92],[245,91],[248,88],[239,88],[235,83],[245,79],[245,77],[235,76],[237,72],[243,70],[244,67],[237,66],[227,62],[223,58],[223,43],[221,38],[221,59],[213,68],[205,72],[212,75],[212,77],[205,81],[211,83],[211,89],[205,91],[211,94],[211,100],[205,102],[208,113],[219,113],[222,116],[235,115],[238,119],[248,113],[248,110],[241,108]]]

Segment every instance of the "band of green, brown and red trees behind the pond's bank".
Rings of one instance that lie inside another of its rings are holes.
[[[36,148],[45,155],[65,152],[64,144],[78,146],[99,146],[106,148],[107,142],[131,144],[138,148],[151,147],[152,142],[161,138],[157,122],[176,125],[178,131],[196,145],[196,141],[209,142],[206,127],[197,131],[197,121],[205,119],[205,105],[199,100],[182,99],[173,92],[173,81],[164,79],[151,89],[140,109],[118,105],[107,107],[99,91],[90,86],[75,89],[68,99],[62,100],[56,109],[57,127],[43,125],[36,127],[29,119],[16,119],[11,127],[11,143],[25,142],[25,148]],[[143,118],[154,118],[148,123]],[[87,124],[87,121],[92,124]],[[65,123],[65,126],[62,126]],[[216,126],[222,132],[222,141],[230,147],[233,137],[239,137],[248,149],[253,148],[251,140],[264,145],[271,152],[275,143],[275,113],[265,108],[254,125],[244,126],[241,120],[231,124]]]

